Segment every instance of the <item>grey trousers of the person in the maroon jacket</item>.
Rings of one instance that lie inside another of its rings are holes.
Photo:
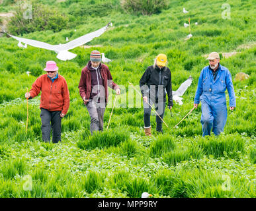
[[[105,104],[101,106],[100,103],[97,103],[94,100],[90,99],[89,102],[86,104],[86,107],[91,117],[91,135],[93,135],[93,132],[95,131],[103,131]]]

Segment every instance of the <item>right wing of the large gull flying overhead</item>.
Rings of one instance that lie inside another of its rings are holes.
[[[63,51],[63,50],[68,51],[68,50],[78,47],[80,45],[86,44],[87,42],[90,42],[91,40],[93,40],[93,38],[97,38],[97,37],[101,36],[101,34],[103,34],[107,30],[109,24],[110,24],[110,22],[108,22],[107,26],[104,26],[103,28],[100,28],[99,30],[97,30],[95,32],[85,34],[84,36],[76,38],[75,40],[71,40],[67,44],[63,44],[59,48],[60,51]]]

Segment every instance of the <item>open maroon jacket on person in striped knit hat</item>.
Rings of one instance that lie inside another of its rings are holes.
[[[112,76],[107,65],[101,64],[101,76],[103,78],[103,86],[105,88],[105,99],[107,103],[108,102],[108,86],[114,90],[119,88],[119,86],[112,81]],[[79,94],[81,98],[85,97],[87,100],[89,100],[92,87],[91,87],[91,73],[88,70],[87,66],[82,69],[78,88],[79,88]]]

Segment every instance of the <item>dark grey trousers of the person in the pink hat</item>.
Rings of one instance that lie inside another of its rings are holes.
[[[47,109],[41,108],[41,131],[42,140],[44,142],[50,142],[50,133],[52,128],[52,142],[58,143],[61,141],[62,134],[62,117],[60,113],[62,111],[48,111]]]

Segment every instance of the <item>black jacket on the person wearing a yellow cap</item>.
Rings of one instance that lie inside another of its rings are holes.
[[[152,86],[155,85],[155,86]],[[149,66],[140,78],[140,90],[153,102],[165,102],[168,95],[168,106],[173,106],[173,90],[171,88],[171,71],[168,67],[155,68]]]

